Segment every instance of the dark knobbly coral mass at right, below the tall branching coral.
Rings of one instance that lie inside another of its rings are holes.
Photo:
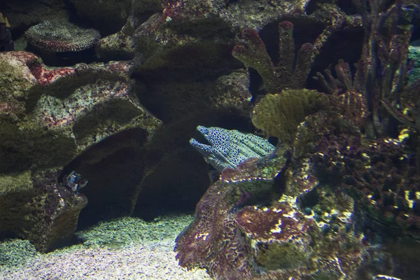
[[[358,215],[370,221],[367,227],[380,235],[419,235],[416,194],[420,176],[400,141],[367,141],[344,117],[330,120],[319,114],[307,117],[297,135],[301,141],[295,149],[306,143],[313,152],[304,157],[307,160],[300,160],[310,165],[302,169],[304,173],[294,173],[294,178],[303,179],[309,174],[318,181],[344,188],[355,200],[358,211],[363,212]],[[378,227],[386,230],[378,231]]]

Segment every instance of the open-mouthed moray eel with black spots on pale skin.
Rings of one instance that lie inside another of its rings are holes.
[[[190,139],[190,144],[218,171],[235,169],[248,158],[260,158],[274,152],[272,144],[253,134],[202,125],[197,130],[211,145],[201,144],[195,139]]]

